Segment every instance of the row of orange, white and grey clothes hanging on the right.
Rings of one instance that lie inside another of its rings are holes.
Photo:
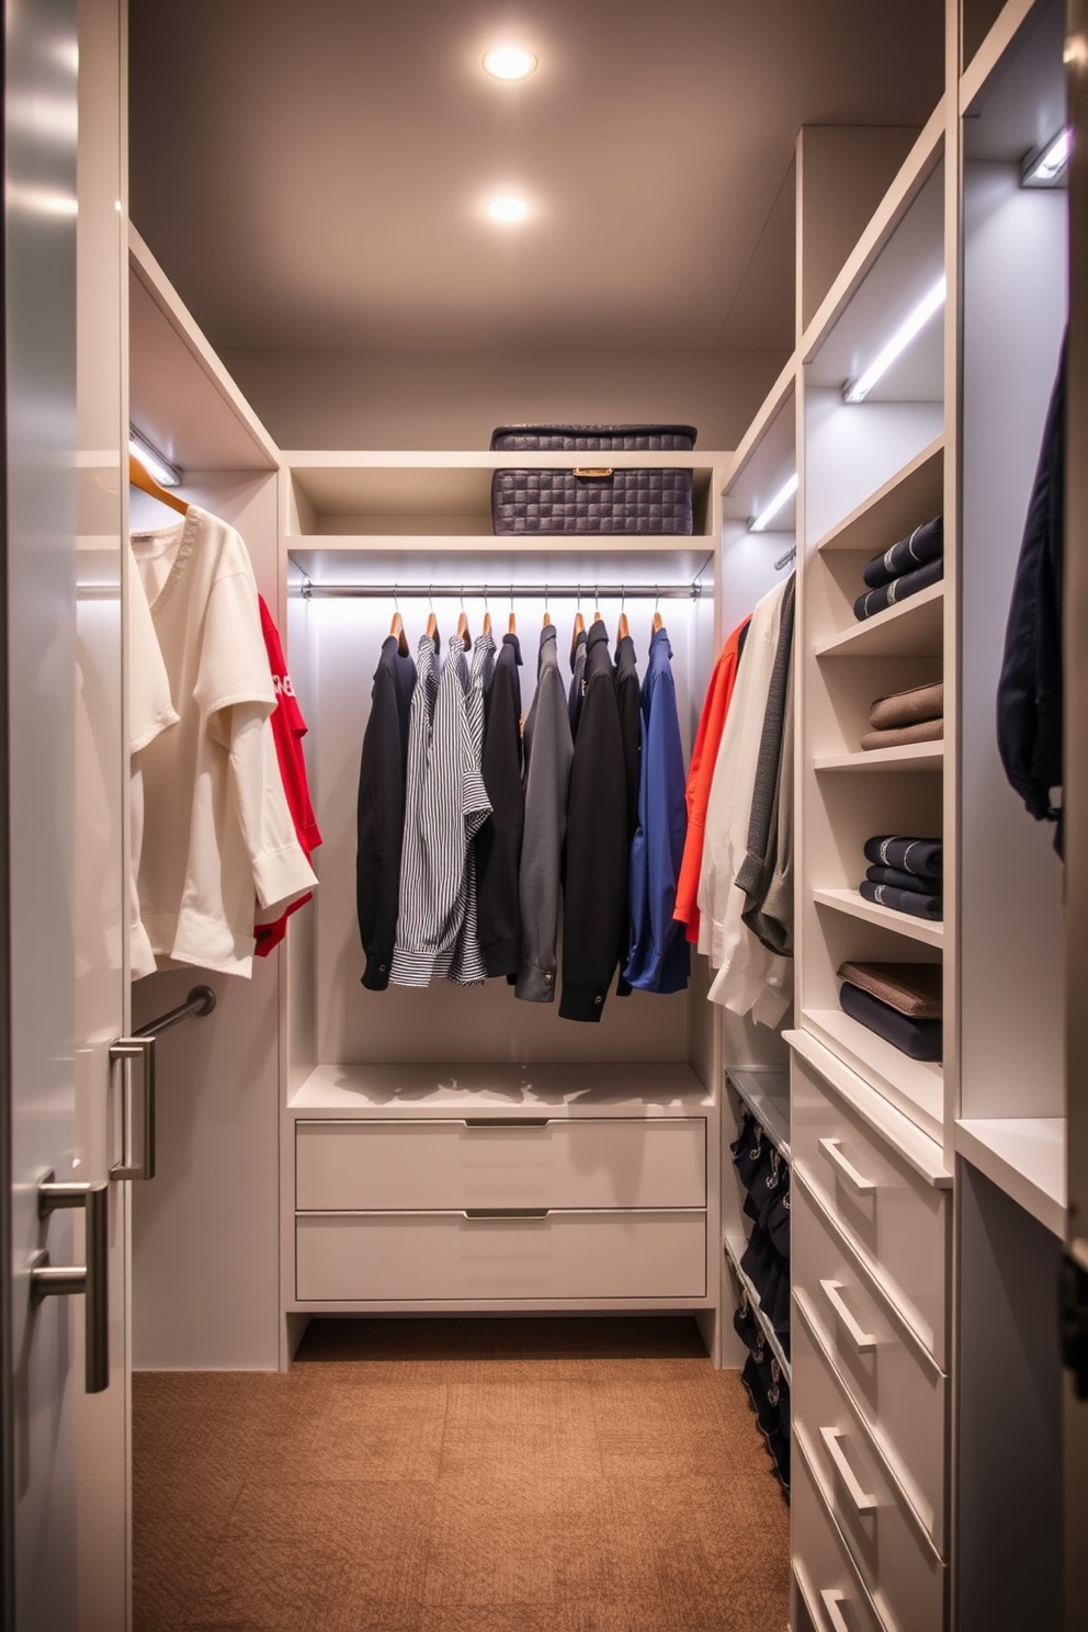
[[[677,919],[716,971],[710,997],[763,1025],[793,996],[796,576],[726,641],[688,774]]]

